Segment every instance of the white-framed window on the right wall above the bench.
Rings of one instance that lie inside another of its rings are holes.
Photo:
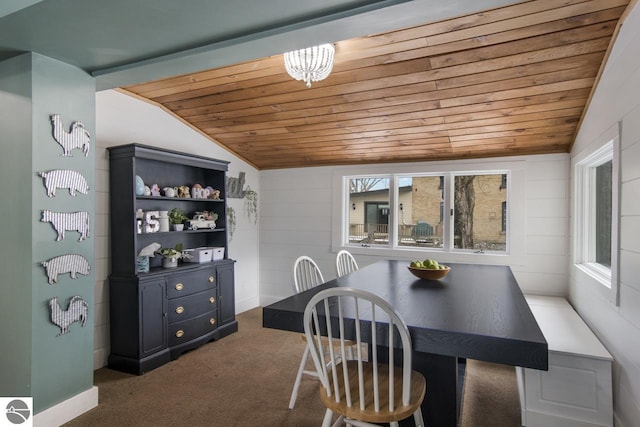
[[[617,299],[617,137],[575,165],[575,263]]]

